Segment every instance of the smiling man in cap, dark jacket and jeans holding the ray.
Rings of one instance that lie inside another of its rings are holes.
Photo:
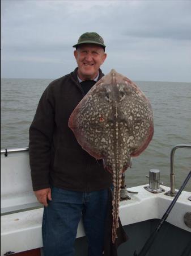
[[[54,80],[41,96],[29,129],[33,190],[44,207],[45,256],[74,255],[82,217],[88,256],[103,255],[108,189],[112,176],[79,146],[68,127],[70,114],[101,77],[104,40],[95,32],[80,36],[74,56],[78,68]],[[84,254],[85,255],[85,254]]]

